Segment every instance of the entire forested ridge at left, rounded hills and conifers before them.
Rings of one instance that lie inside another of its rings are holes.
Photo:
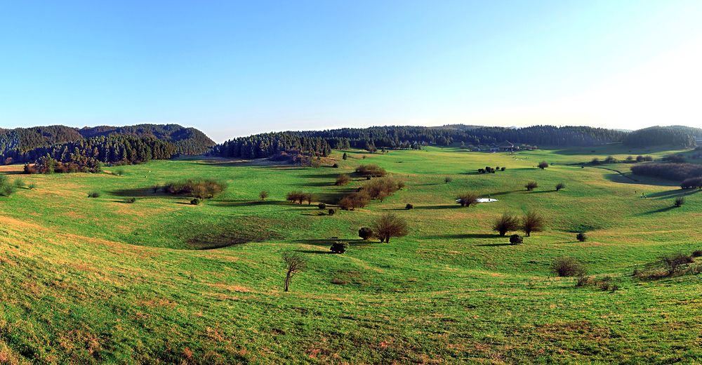
[[[107,138],[130,136],[131,138]],[[98,138],[98,139],[95,139]],[[99,139],[102,138],[102,139]],[[140,124],[136,126],[96,126],[85,128],[72,128],[67,126],[41,126],[33,128],[15,128],[15,129],[0,129],[0,161],[8,163],[17,162],[33,162],[39,157],[44,157],[46,154],[53,156],[56,150],[60,150],[63,154],[65,148],[69,148],[70,156],[74,154],[74,147],[90,145],[98,147],[98,150],[107,151],[107,157],[102,155],[100,161],[114,162],[110,157],[110,151],[126,151],[119,154],[128,154],[124,161],[140,161],[144,157],[148,157],[148,153],[135,154],[137,157],[131,157],[131,151],[134,149],[139,152],[141,145],[152,146],[159,140],[163,143],[156,148],[156,154],[149,159],[170,158],[174,154],[204,154],[215,145],[215,142],[208,138],[204,133],[195,128],[185,128],[177,124]],[[107,141],[107,142],[105,142]],[[104,145],[107,143],[108,145]],[[170,147],[166,147],[170,145]],[[119,147],[117,147],[119,146]],[[133,146],[137,146],[134,147]],[[168,150],[168,157],[162,157],[166,154],[161,153]],[[85,154],[86,157],[93,157],[92,150]],[[173,153],[171,153],[173,152]],[[59,156],[60,157],[60,156]],[[61,160],[57,157],[58,160]],[[124,157],[124,156],[121,156]],[[65,161],[65,159],[64,159]]]

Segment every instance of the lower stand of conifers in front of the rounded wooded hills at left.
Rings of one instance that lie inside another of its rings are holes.
[[[96,172],[101,163],[139,164],[152,159],[170,159],[176,146],[154,137],[110,135],[76,142],[39,147],[18,156],[19,161],[36,162],[28,173]],[[25,170],[27,170],[25,168]]]

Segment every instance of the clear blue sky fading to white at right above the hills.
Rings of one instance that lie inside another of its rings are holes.
[[[702,126],[702,1],[0,0],[0,126]]]

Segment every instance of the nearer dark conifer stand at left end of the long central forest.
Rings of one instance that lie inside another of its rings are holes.
[[[239,137],[212,148],[210,154],[219,157],[258,159],[281,155],[326,157],[331,145],[324,138],[304,137],[290,133],[264,133]]]

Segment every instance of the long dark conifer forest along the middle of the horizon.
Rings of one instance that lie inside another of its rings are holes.
[[[422,145],[449,146],[456,143],[491,145],[505,140],[528,145],[590,146],[618,142],[624,135],[623,131],[590,127],[383,126],[263,133],[228,140],[214,147],[211,154],[251,159],[272,157],[295,150],[301,154],[312,152],[326,156],[330,148],[375,151],[382,148],[418,149]]]

